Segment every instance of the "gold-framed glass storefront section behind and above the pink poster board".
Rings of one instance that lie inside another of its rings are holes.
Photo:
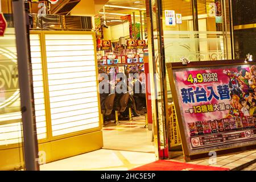
[[[160,159],[168,159],[174,148],[170,137],[172,121],[168,114],[168,105],[173,103],[174,98],[166,64],[181,62],[184,58],[188,62],[245,59],[247,53],[253,54],[255,48],[243,46],[242,39],[255,44],[255,36],[252,35],[255,19],[238,18],[241,15],[238,13],[245,11],[254,16],[254,13],[250,13],[253,8],[246,6],[246,3],[214,0],[147,1],[152,28],[149,32],[152,38],[151,71],[156,75],[154,88],[151,88],[155,91],[155,102],[152,102],[155,111],[152,113],[155,113],[153,117],[158,121]],[[250,4],[255,6],[255,2]],[[241,5],[245,5],[243,10]],[[246,38],[246,33],[250,33],[253,40]]]

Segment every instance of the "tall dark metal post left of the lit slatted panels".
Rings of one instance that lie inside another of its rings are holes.
[[[36,132],[32,116],[32,97],[30,87],[30,72],[28,67],[28,43],[26,30],[26,15],[23,0],[13,1],[14,27],[16,34],[17,61],[20,87],[20,106],[22,111],[23,146],[25,169],[28,171],[38,170],[36,152]]]

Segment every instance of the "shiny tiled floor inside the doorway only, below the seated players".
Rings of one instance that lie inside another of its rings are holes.
[[[112,150],[125,150],[136,152],[155,152],[152,142],[152,130],[144,126],[145,117],[134,117],[132,121],[114,121],[106,123],[103,131],[104,147]]]

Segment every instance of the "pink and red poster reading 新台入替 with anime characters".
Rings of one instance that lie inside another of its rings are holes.
[[[177,69],[174,80],[191,154],[256,144],[256,65]]]

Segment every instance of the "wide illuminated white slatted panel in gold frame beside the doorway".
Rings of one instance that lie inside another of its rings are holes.
[[[46,34],[52,136],[100,125],[92,35]]]

